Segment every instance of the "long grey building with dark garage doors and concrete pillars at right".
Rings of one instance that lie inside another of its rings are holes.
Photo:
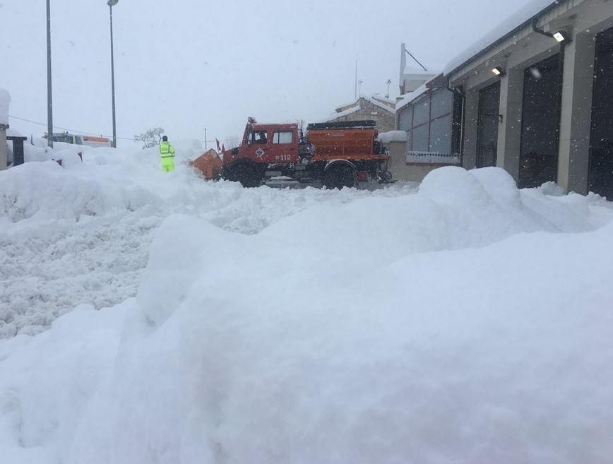
[[[533,0],[398,102],[407,162],[427,150],[613,198],[612,81],[613,2]]]

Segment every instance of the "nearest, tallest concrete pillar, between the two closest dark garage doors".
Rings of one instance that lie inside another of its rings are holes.
[[[578,34],[564,53],[558,184],[588,193],[590,131],[594,83],[593,34]]]

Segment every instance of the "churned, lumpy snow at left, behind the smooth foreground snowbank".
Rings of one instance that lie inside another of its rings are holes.
[[[170,175],[161,172],[156,148],[54,146],[26,145],[26,156],[61,159],[64,168],[30,162],[0,172],[0,338],[39,333],[78,304],[100,309],[136,295],[153,232],[172,213],[254,234],[320,203],[416,189],[279,191],[203,182],[184,164],[202,153],[198,142],[176,144],[179,166]]]

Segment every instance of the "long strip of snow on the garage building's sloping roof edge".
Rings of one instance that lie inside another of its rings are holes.
[[[496,25],[494,29],[488,32],[486,35],[477,40],[470,47],[465,49],[462,53],[458,54],[456,58],[452,59],[445,69],[443,73],[448,75],[452,73],[463,64],[466,64],[471,59],[476,58],[480,55],[487,47],[494,44],[496,41],[501,40],[507,35],[514,32],[516,29],[522,27],[529,20],[534,18],[538,13],[544,11],[550,6],[561,4],[566,0],[532,0],[526,6],[521,8],[511,17],[506,18],[501,24]],[[398,107],[398,106],[397,106]]]

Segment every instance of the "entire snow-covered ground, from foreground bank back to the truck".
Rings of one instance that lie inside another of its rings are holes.
[[[0,172],[6,462],[613,459],[611,203],[496,168],[242,189],[75,156]]]

